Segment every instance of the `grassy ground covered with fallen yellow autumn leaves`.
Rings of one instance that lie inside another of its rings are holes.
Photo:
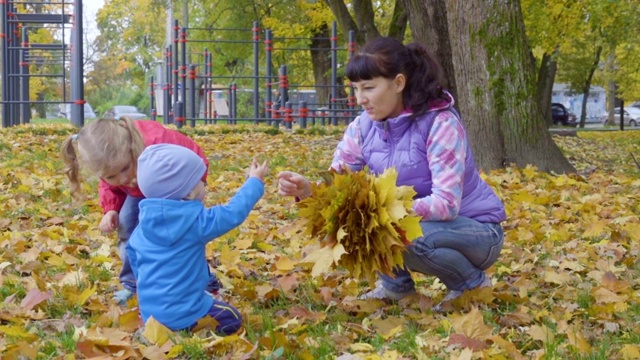
[[[58,147],[73,129],[0,130],[0,357],[3,359],[637,359],[640,358],[640,132],[579,133],[557,143],[584,177],[534,168],[486,174],[504,199],[505,247],[493,288],[446,294],[416,276],[420,295],[399,304],[360,301],[367,284],[345,271],[311,278],[297,209],[275,174],[319,178],[342,129],[186,129],[211,160],[206,202],[224,202],[251,158],[270,164],[267,191],[208,255],[244,316],[244,331],[133,337],[135,301],[118,307],[114,234],[97,229],[96,179],[72,203]],[[157,337],[160,338],[160,337]]]

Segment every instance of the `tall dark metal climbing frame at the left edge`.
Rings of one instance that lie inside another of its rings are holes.
[[[0,51],[2,52],[2,126],[9,127],[31,120],[31,104],[71,104],[71,122],[84,125],[84,68],[82,35],[82,0],[73,2],[46,2],[53,13],[19,13],[16,5],[43,5],[43,2],[13,1],[0,2],[2,30]],[[73,11],[67,12],[72,6]],[[52,27],[61,34],[59,43],[34,44],[29,42],[29,31]],[[69,29],[70,27],[70,29]],[[67,44],[67,32],[70,44]],[[51,65],[60,69],[59,73],[31,74],[30,66]],[[67,70],[69,66],[70,101],[67,94]],[[60,79],[62,99],[29,99],[29,80],[32,77]]]

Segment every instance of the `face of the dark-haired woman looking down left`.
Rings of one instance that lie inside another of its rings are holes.
[[[402,74],[394,79],[376,77],[371,80],[352,82],[358,105],[362,106],[369,117],[375,121],[397,117],[404,111],[402,90],[405,77]]]

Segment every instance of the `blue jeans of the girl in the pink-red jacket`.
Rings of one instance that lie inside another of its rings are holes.
[[[129,263],[126,246],[131,233],[138,226],[138,216],[140,214],[138,204],[142,199],[127,195],[118,218],[118,252],[122,261],[120,284],[122,284],[123,288],[134,293],[136,292],[136,278],[133,275],[131,263]]]

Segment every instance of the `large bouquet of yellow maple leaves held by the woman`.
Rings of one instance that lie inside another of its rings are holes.
[[[396,186],[397,178],[393,168],[378,177],[345,170],[311,185],[313,196],[299,203],[299,221],[320,240],[302,261],[314,263],[312,276],[339,265],[373,283],[378,271],[392,275],[403,266],[406,245],[422,230],[420,217],[410,213],[416,192]]]

